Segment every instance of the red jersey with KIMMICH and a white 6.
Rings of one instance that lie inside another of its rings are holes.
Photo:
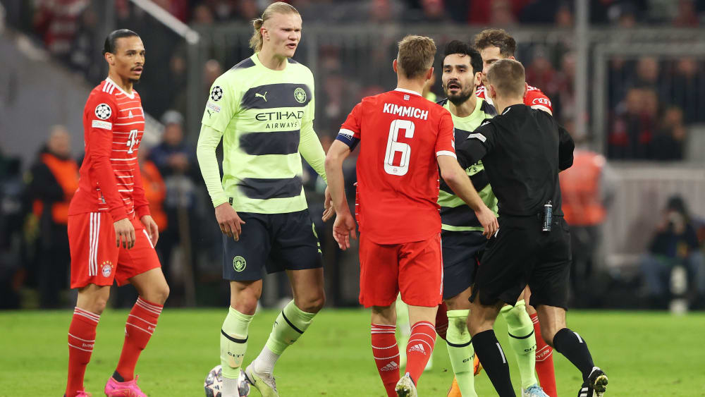
[[[455,157],[448,110],[398,88],[362,99],[338,140],[360,142],[355,211],[360,233],[378,244],[441,233],[436,156]]]

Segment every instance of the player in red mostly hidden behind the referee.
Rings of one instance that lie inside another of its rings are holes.
[[[487,71],[492,63],[499,59],[515,59],[514,53],[517,49],[517,43],[505,30],[502,29],[486,29],[479,32],[474,40],[475,49],[482,56],[482,87],[477,90],[477,96],[490,101],[489,95],[486,93]],[[524,94],[524,104],[534,109],[545,111],[553,115],[553,107],[551,100],[546,97],[546,94],[541,92],[537,87],[532,87],[525,83],[526,92]],[[526,310],[529,313],[529,318],[534,325],[534,336],[536,338],[536,372],[539,376],[539,384],[548,396],[556,397],[556,376],[553,370],[553,349],[541,338],[541,326],[539,326],[539,317],[534,309],[528,305],[531,291],[527,287],[524,291],[523,299],[527,305]],[[522,319],[517,319],[522,321]]]

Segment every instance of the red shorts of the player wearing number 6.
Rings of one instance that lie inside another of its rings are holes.
[[[407,305],[443,302],[441,235],[403,244],[376,244],[360,233],[360,304],[389,306],[401,292]]]

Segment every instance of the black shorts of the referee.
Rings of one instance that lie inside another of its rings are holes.
[[[538,216],[500,216],[499,232],[487,243],[470,300],[514,305],[529,285],[530,305],[568,308],[570,233],[563,217],[541,231]]]

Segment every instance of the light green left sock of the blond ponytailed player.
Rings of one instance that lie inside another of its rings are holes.
[[[240,366],[243,365],[247,351],[247,329],[250,328],[252,317],[238,312],[230,307],[228,316],[221,329],[221,365],[223,377],[238,379]]]

